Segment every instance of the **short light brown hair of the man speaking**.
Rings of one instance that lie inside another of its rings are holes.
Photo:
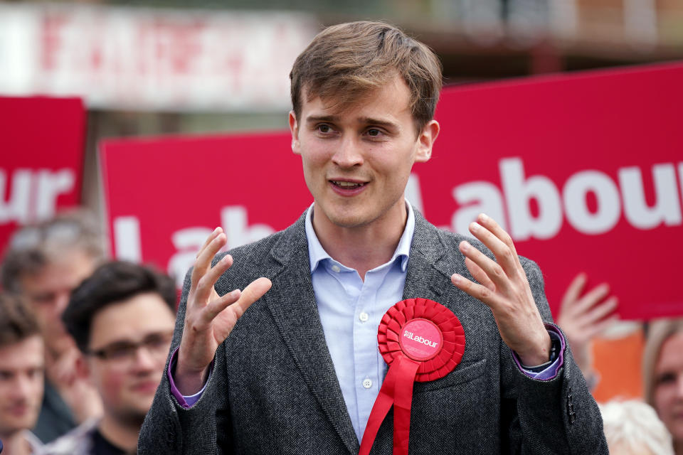
[[[434,117],[441,90],[441,63],[423,43],[382,22],[325,28],[297,57],[290,80],[297,120],[307,101],[320,97],[343,110],[370,90],[400,75],[411,91],[418,132]]]

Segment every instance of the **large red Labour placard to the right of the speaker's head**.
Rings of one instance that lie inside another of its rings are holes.
[[[671,64],[448,90],[440,144],[417,169],[427,218],[501,220],[553,309],[583,271],[625,318],[683,314],[681,80]]]

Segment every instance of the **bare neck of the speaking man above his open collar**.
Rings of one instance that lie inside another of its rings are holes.
[[[346,267],[356,269],[364,280],[366,272],[391,259],[406,228],[406,220],[408,210],[402,200],[368,225],[354,228],[334,225],[324,214],[316,216],[315,210],[312,224],[327,254]]]

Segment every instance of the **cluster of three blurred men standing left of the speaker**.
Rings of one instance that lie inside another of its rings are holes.
[[[130,454],[171,346],[165,274],[105,259],[87,213],[18,230],[1,268],[4,455]]]

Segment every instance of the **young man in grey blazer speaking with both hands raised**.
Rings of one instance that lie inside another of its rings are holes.
[[[314,38],[291,79],[292,150],[314,203],[229,255],[216,256],[220,228],[203,245],[139,453],[407,453],[402,424],[411,454],[607,454],[536,264],[485,215],[466,239],[406,203],[411,168],[439,132],[435,55],[384,23],[345,23]],[[445,343],[435,318],[428,332],[443,340],[420,351],[410,343],[427,338],[406,329],[397,365],[454,350],[450,370],[414,384],[414,370],[408,381],[387,373],[378,346],[404,299],[437,302],[464,333],[460,347]],[[377,416],[388,395],[397,405]]]

